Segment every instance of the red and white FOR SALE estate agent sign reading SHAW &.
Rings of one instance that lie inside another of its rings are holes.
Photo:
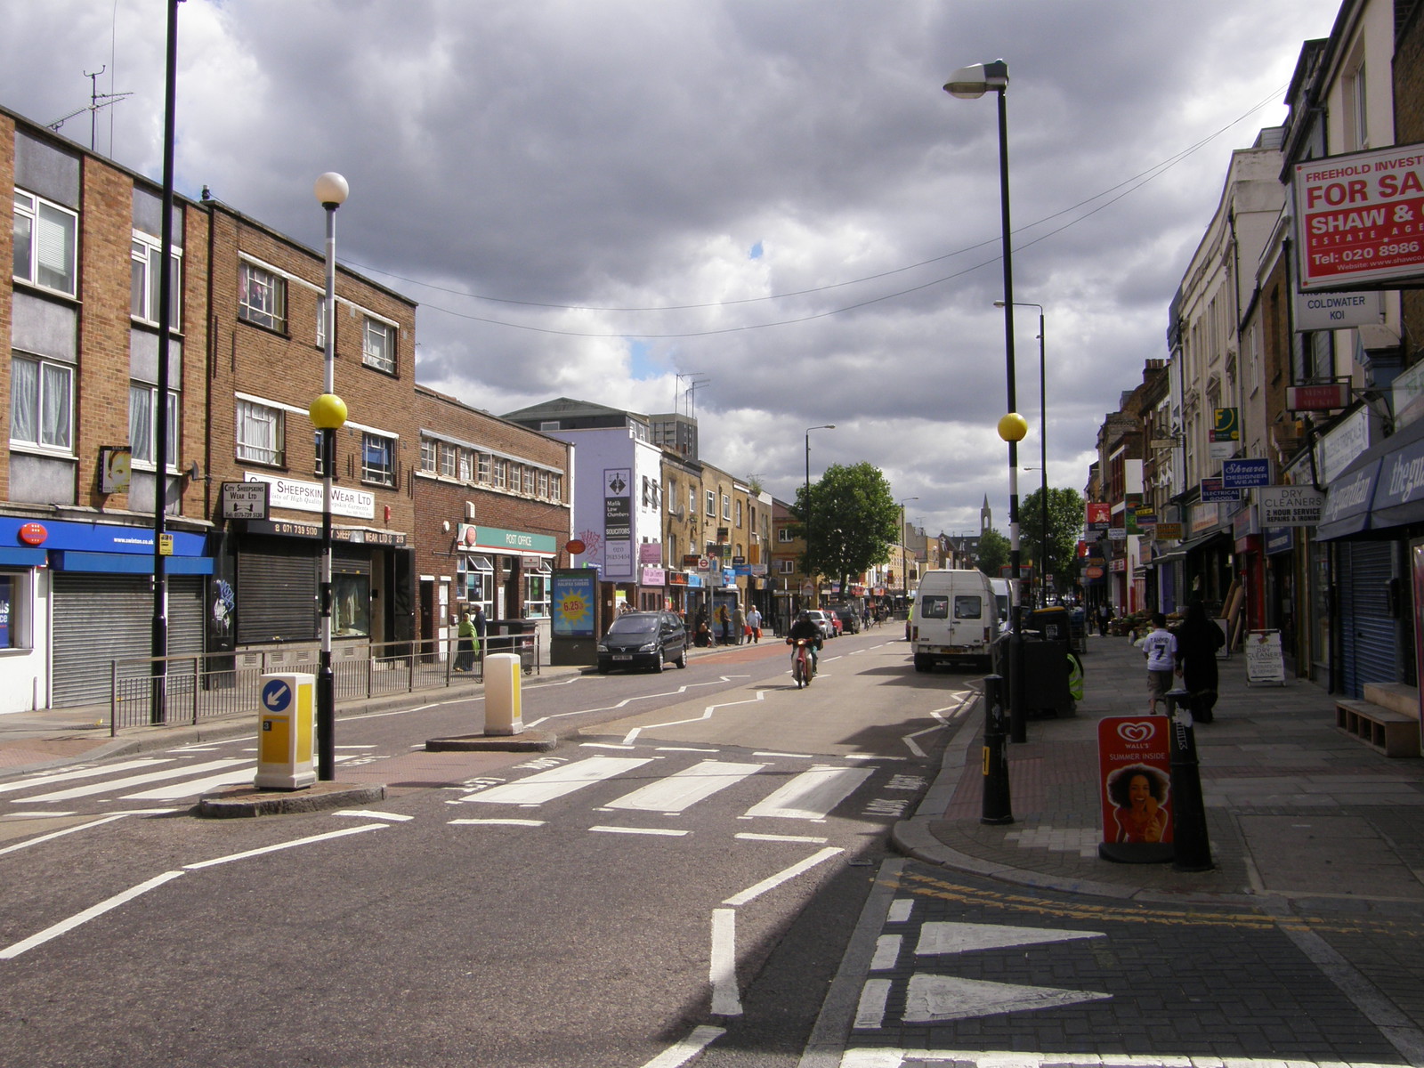
[[[1302,292],[1424,275],[1424,145],[1296,164],[1293,189]]]

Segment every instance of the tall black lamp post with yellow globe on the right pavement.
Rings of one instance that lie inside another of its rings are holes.
[[[960,100],[978,100],[993,90],[998,94],[998,199],[1000,239],[1004,246],[1004,366],[1007,379],[1008,413],[998,420],[998,436],[1008,443],[1008,581],[1010,601],[1010,644],[1012,668],[1010,671],[1010,738],[1014,742],[1028,740],[1028,723],[1024,715],[1024,658],[1021,655],[1022,628],[1018,619],[1018,443],[1028,433],[1028,423],[1018,414],[1018,399],[1014,389],[1014,249],[1012,226],[1008,221],[1008,64],[1004,60],[975,63],[960,67],[944,84],[944,91]]]

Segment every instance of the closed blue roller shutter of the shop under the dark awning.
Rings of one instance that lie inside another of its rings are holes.
[[[1340,547],[1341,689],[1364,695],[1366,682],[1397,682],[1397,628],[1390,615],[1393,541],[1354,541]]]

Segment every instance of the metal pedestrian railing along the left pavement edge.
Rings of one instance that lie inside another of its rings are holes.
[[[537,632],[488,635],[470,672],[456,671],[459,651],[453,635],[417,642],[373,642],[365,648],[365,655],[333,661],[336,701],[369,701],[483,682],[484,658],[494,652],[518,654],[525,675],[540,669]],[[108,732],[112,736],[121,728],[195,725],[245,712],[255,716],[262,705],[263,675],[315,675],[316,668],[316,649],[282,646],[110,661]]]

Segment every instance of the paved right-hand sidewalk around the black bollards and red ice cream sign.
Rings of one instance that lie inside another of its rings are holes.
[[[1212,867],[1101,859],[1098,721],[1146,715],[1146,669],[1128,638],[1091,637],[1082,661],[1077,715],[1032,718],[1028,740],[1008,745],[1012,823],[981,822],[980,702],[975,729],[957,732],[924,800],[896,826],[901,852],[1115,899],[1272,897],[1302,913],[1424,907],[1424,760],[1387,758],[1336,728],[1336,696],[1309,681],[1247,685],[1240,654],[1219,661],[1213,722],[1193,726]]]

